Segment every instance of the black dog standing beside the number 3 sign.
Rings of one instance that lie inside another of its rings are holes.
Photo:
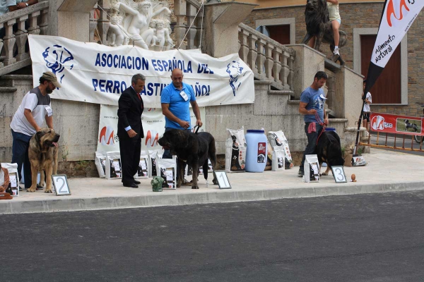
[[[325,161],[327,164],[326,171],[323,176],[328,176],[331,166],[343,166],[344,159],[341,157],[340,137],[334,131],[324,131],[319,136],[317,143],[317,155],[319,168]]]

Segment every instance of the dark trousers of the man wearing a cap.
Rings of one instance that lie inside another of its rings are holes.
[[[18,176],[21,178],[20,171],[23,165],[23,177],[25,178],[25,188],[31,187],[33,177],[31,176],[31,164],[28,158],[28,147],[30,147],[30,139],[32,136],[16,133],[12,130],[12,163],[18,164]]]

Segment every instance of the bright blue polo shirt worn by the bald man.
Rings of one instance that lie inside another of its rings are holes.
[[[184,100],[183,97],[179,94],[180,92],[184,91],[185,94],[187,94],[187,101]],[[190,123],[190,102],[196,101],[196,97],[194,96],[194,91],[191,85],[188,85],[187,83],[182,82],[182,90],[179,90],[175,88],[174,84],[171,82],[170,85],[167,85],[167,87],[163,88],[162,92],[160,93],[160,103],[162,104],[170,104],[170,111],[174,116],[179,118],[182,121],[188,121]],[[184,129],[181,126],[179,126],[178,123],[175,123],[174,121],[170,121],[165,116],[165,128],[177,128],[177,129]],[[192,128],[192,125],[190,124],[190,128]]]

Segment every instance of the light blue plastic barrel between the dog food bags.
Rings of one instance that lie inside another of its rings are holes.
[[[254,129],[247,130],[246,144],[246,171],[264,172],[266,166],[265,131]]]

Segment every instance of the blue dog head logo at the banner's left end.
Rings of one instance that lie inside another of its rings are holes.
[[[52,70],[59,78],[59,73],[64,71],[65,66],[68,62],[73,61],[73,55],[71,52],[65,47],[61,47],[61,45],[53,45],[53,47],[47,47],[44,52],[42,52],[42,57],[46,62],[47,68]],[[69,64],[69,63],[68,63]],[[73,68],[73,64],[69,66],[69,69]],[[60,82],[64,78],[64,74],[62,74],[59,78]]]

